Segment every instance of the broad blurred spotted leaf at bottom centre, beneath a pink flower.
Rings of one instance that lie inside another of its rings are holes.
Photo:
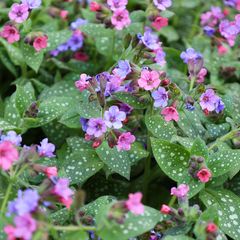
[[[104,240],[127,240],[139,236],[152,228],[163,219],[159,211],[144,206],[144,214],[133,215],[128,213],[123,224],[107,219],[110,206],[106,206],[96,216],[97,234]]]

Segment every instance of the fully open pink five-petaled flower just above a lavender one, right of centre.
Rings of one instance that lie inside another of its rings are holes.
[[[141,78],[138,79],[138,85],[145,90],[152,90],[160,84],[160,78],[157,71],[143,70]]]

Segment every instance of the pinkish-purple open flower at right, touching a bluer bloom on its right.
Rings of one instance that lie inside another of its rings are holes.
[[[200,106],[202,110],[212,112],[215,110],[218,100],[219,97],[215,92],[212,89],[208,89],[200,96]]]

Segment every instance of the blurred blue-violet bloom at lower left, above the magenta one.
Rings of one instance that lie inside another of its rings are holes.
[[[9,202],[8,215],[24,215],[36,210],[40,197],[36,190],[27,189],[25,191],[18,191],[18,197]]]

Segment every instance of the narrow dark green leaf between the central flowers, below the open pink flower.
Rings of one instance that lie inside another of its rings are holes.
[[[135,109],[145,109],[147,107],[145,103],[140,102],[137,97],[133,96],[130,93],[117,92],[114,94],[114,97],[116,97],[117,100],[121,102],[127,103]]]

